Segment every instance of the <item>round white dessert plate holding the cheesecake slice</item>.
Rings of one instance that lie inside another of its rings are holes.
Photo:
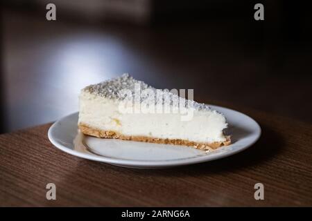
[[[153,144],[116,139],[101,139],[78,131],[78,113],[55,122],[49,129],[49,140],[61,151],[76,157],[105,162],[116,166],[155,169],[217,160],[252,146],[261,135],[254,119],[228,108],[210,105],[227,117],[232,144],[216,151],[200,151],[189,146]]]

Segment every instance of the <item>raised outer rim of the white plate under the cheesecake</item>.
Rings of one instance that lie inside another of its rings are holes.
[[[247,144],[241,148],[237,148],[234,149],[232,151],[227,151],[225,153],[222,154],[216,154],[216,155],[201,155],[199,157],[194,157],[191,159],[181,159],[181,160],[174,160],[174,161],[144,161],[144,160],[127,160],[127,159],[114,159],[114,158],[110,158],[110,157],[105,157],[105,156],[101,156],[101,155],[94,155],[93,153],[82,153],[79,151],[76,151],[72,148],[69,148],[67,146],[64,146],[63,144],[60,144],[60,142],[58,142],[56,140],[56,138],[53,137],[52,133],[53,130],[58,126],[58,124],[60,124],[60,122],[64,122],[64,120],[66,120],[67,118],[73,116],[73,115],[78,115],[79,112],[75,112],[75,113],[71,113],[69,115],[66,115],[64,117],[61,117],[60,119],[58,119],[56,122],[54,122],[48,131],[48,137],[49,140],[51,142],[51,144],[53,144],[53,146],[55,146],[56,148],[60,149],[61,151],[64,151],[65,153],[69,153],[71,155],[74,155],[76,157],[81,157],[87,160],[94,160],[97,162],[105,162],[107,164],[112,164],[115,166],[125,166],[125,167],[131,167],[131,168],[141,168],[141,169],[157,169],[157,168],[164,168],[164,167],[172,167],[172,166],[183,166],[183,165],[188,165],[188,164],[199,164],[202,162],[209,162],[212,160],[218,160],[224,157],[228,157],[229,155],[234,155],[236,153],[240,153],[241,151],[244,151],[245,149],[249,148],[250,146],[252,146],[253,144],[255,144],[258,140],[259,137],[261,137],[261,127],[259,126],[259,124],[252,119],[252,117],[245,115],[244,113],[241,113],[239,111],[235,111],[233,109],[230,108],[225,108],[223,106],[216,106],[216,105],[210,105],[211,108],[223,108],[226,109],[227,111],[232,111],[235,113],[238,113],[240,115],[243,115],[243,117],[246,117],[248,120],[250,120],[255,126],[256,126],[256,130],[257,130],[257,136],[254,138],[254,140],[252,142],[250,142],[250,144]]]

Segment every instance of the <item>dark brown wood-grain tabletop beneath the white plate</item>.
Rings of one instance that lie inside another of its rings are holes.
[[[0,206],[312,206],[312,126],[230,106],[259,122],[237,155],[173,169],[125,169],[74,157],[48,140],[51,124],[0,135]],[[46,200],[55,183],[56,200]],[[254,184],[264,200],[254,200]]]

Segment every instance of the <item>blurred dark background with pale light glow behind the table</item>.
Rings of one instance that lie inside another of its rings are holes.
[[[56,21],[46,20],[47,3],[55,3]],[[254,20],[256,3],[264,21]],[[307,3],[4,1],[1,133],[78,111],[81,88],[122,73],[156,88],[194,88],[200,102],[311,123]]]

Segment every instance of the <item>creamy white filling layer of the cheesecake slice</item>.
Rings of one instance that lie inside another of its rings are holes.
[[[92,128],[115,131],[128,136],[181,139],[193,142],[223,142],[225,117],[213,110],[194,110],[189,121],[180,113],[122,113],[123,101],[108,99],[82,91],[79,99],[79,121]]]

